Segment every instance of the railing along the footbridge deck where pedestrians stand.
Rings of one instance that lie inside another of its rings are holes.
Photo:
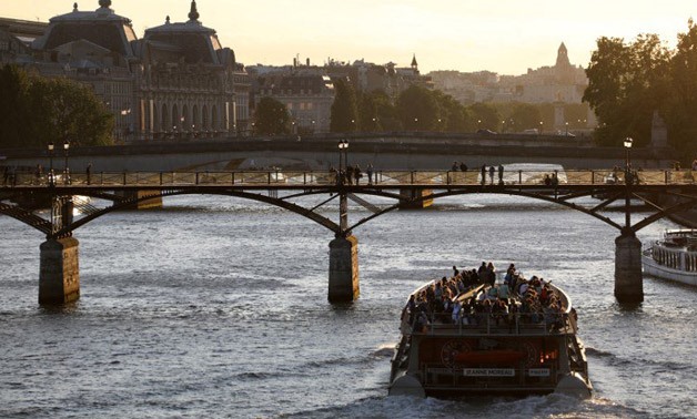
[[[633,172],[633,182],[642,185],[687,185],[695,183],[693,171],[645,170]],[[316,171],[234,171],[234,172],[100,172],[55,173],[52,182],[58,186],[190,186],[190,185],[307,185],[326,186],[336,183],[335,172]],[[556,181],[555,181],[556,177]],[[50,176],[18,173],[3,177],[0,187],[49,186]],[[505,185],[606,185],[625,184],[625,172],[619,170],[508,170],[498,173],[481,171],[378,171],[373,173],[374,185],[466,186],[481,184]],[[354,181],[355,183],[355,181]],[[367,185],[363,174],[360,185]]]

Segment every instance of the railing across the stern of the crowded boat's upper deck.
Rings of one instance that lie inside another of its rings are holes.
[[[426,321],[403,319],[403,334],[412,335],[568,335],[576,321],[568,313],[466,314],[458,321],[436,313]]]

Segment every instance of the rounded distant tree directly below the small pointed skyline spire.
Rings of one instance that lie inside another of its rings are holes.
[[[428,89],[411,85],[397,98],[397,115],[405,130],[433,131],[438,120],[438,104]]]

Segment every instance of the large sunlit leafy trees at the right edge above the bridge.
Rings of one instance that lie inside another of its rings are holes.
[[[657,113],[669,144],[690,161],[697,154],[697,27],[691,19],[675,49],[657,34],[639,34],[630,42],[598,39],[586,74],[584,101],[598,116],[598,144],[620,146],[629,136],[647,145]]]

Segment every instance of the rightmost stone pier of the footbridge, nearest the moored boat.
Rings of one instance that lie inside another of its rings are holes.
[[[642,242],[632,229],[615,239],[615,298],[626,304],[644,300]]]

